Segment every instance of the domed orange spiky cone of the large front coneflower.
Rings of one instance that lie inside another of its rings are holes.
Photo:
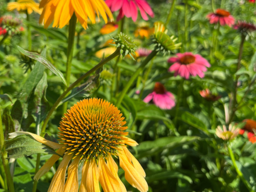
[[[102,99],[84,99],[77,102],[62,118],[59,127],[60,143],[68,154],[81,156],[81,160],[109,154],[117,155],[118,148],[128,132],[126,122],[114,105]]]

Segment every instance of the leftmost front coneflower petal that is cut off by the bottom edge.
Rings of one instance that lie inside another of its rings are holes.
[[[72,155],[64,155],[57,172],[55,173],[48,192],[60,192],[64,190],[65,174],[69,161],[71,161]]]

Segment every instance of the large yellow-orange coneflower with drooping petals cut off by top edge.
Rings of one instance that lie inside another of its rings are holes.
[[[44,23],[47,28],[53,22],[53,27],[63,28],[68,24],[73,13],[75,12],[77,19],[82,27],[87,28],[88,18],[94,24],[96,22],[96,14],[100,18],[108,22],[113,20],[112,12],[103,0],[42,0],[40,8],[43,8],[39,23]]]

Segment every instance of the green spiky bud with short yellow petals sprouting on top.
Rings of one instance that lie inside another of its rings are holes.
[[[169,36],[167,35],[168,30],[164,30],[163,24],[158,24],[155,25],[155,34],[151,39],[152,44],[155,45],[155,50],[159,52],[163,52],[164,54],[166,53],[171,53],[172,50],[174,49],[179,49],[181,43],[175,44],[175,39],[174,36]]]

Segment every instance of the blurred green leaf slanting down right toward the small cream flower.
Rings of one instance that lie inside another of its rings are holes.
[[[188,111],[183,112],[181,114],[181,116],[178,117],[178,119],[191,125],[192,127],[198,128],[199,130],[204,131],[205,133],[209,134],[205,124],[203,122],[201,122],[201,120],[197,119],[194,115],[192,115]]]

